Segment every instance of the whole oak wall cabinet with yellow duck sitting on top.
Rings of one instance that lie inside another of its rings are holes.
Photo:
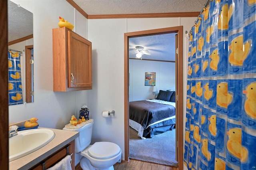
[[[92,89],[92,43],[66,27],[52,29],[53,91]]]

